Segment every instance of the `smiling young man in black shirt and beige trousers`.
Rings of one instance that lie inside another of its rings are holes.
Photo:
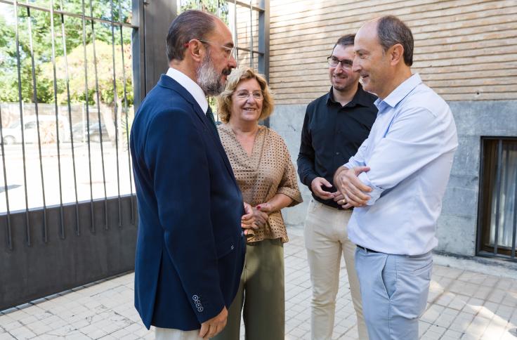
[[[343,197],[332,185],[334,172],[355,155],[377,117],[377,97],[362,89],[359,74],[352,71],[354,37],[347,34],[334,45],[327,58],[332,88],[307,106],[301,132],[298,174],[313,193],[305,225],[313,284],[312,339],[332,338],[341,253],[358,317],[359,339],[368,339],[354,268],[355,244],[346,233],[352,211],[341,207]]]

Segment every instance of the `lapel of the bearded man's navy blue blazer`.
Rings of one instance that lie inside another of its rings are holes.
[[[221,138],[219,138],[218,133],[216,133],[216,131],[214,131],[214,128],[211,126],[211,122],[209,121],[209,117],[207,117],[207,115],[203,112],[203,110],[201,110],[201,107],[199,106],[197,101],[194,99],[194,97],[192,97],[190,92],[188,92],[183,86],[181,86],[181,84],[179,84],[178,81],[172,79],[171,77],[169,77],[166,74],[162,74],[162,76],[160,77],[160,79],[158,81],[158,85],[166,87],[167,89],[176,91],[185,100],[187,100],[188,103],[190,103],[190,105],[192,105],[192,110],[194,110],[195,114],[197,115],[199,120],[201,120],[202,124],[208,131],[207,133],[209,133],[211,138],[214,140],[216,148],[218,149],[218,152],[221,154],[221,157],[223,158],[223,162],[226,166],[226,169],[228,169],[228,171],[232,175],[231,177],[233,179],[233,182],[235,183],[235,185],[237,185],[237,181],[235,180],[235,176],[233,174],[232,166],[230,164],[230,161],[228,160],[228,156],[226,156],[226,152],[223,148],[223,144],[221,144]]]

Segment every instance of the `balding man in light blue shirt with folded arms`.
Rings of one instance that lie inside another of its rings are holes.
[[[355,207],[348,237],[358,246],[355,268],[369,339],[418,339],[456,126],[447,103],[412,74],[413,36],[398,18],[367,22],[355,35],[354,51],[353,70],[379,97],[379,112],[334,183],[343,207]]]

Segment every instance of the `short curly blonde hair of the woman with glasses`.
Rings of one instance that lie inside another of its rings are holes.
[[[258,85],[261,86],[261,90],[264,96],[262,100],[262,112],[258,120],[266,119],[273,112],[275,102],[273,95],[269,91],[268,82],[266,78],[255,72],[251,67],[239,67],[230,74],[228,81],[226,81],[226,89],[217,98],[218,116],[221,122],[228,123],[230,121],[230,115],[232,110],[232,94],[237,89],[237,85],[243,80],[256,79]]]

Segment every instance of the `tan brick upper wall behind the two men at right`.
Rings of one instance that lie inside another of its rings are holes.
[[[342,34],[393,14],[414,34],[413,72],[445,100],[517,99],[517,0],[270,0],[270,86],[278,104],[329,89]]]

